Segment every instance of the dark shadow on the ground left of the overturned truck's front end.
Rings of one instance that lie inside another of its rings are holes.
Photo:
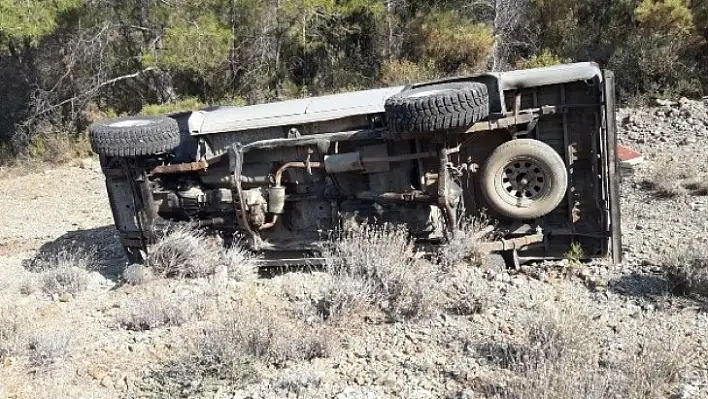
[[[118,279],[126,265],[118,231],[111,225],[69,231],[56,240],[42,244],[35,256],[22,261],[22,266],[29,271],[38,271],[43,263],[65,258],[66,254],[91,257],[95,269],[111,280]]]

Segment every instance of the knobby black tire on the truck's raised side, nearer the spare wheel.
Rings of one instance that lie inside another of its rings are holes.
[[[489,116],[489,92],[479,82],[441,83],[405,90],[386,100],[395,133],[433,133],[465,128]]]

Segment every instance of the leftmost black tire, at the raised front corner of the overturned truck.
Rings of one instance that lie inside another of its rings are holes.
[[[168,117],[111,119],[92,125],[89,131],[93,151],[111,157],[163,154],[180,143],[179,125]]]

